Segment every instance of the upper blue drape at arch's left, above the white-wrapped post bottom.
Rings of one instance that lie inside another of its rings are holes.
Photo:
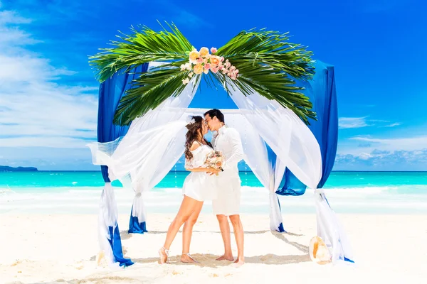
[[[130,89],[132,80],[137,79],[139,73],[147,72],[148,63],[135,67],[130,72],[116,72],[110,79],[100,84],[98,120],[97,120],[97,141],[110,142],[120,136],[125,136],[129,126],[117,126],[112,123],[115,111],[127,89]],[[102,178],[105,182],[110,182],[108,178],[108,167],[101,165]]]

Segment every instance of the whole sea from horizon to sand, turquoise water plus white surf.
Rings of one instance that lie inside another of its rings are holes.
[[[171,172],[145,200],[148,212],[176,212],[187,172]],[[241,172],[242,212],[268,213],[268,191],[251,172]],[[0,173],[0,213],[97,213],[104,182],[99,171]],[[132,207],[132,190],[117,185],[120,213]],[[427,213],[427,172],[332,172],[325,190],[332,208],[344,213]],[[283,212],[312,213],[312,190],[280,197]],[[206,202],[205,212],[210,204]]]

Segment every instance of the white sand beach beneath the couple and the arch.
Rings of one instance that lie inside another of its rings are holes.
[[[214,261],[223,247],[210,214],[200,217],[191,244],[201,264],[178,262],[179,233],[172,263],[159,265],[157,251],[173,217],[150,215],[150,232],[139,235],[126,233],[128,216],[120,215],[125,256],[135,265],[112,271],[95,263],[96,215],[0,214],[0,283],[427,283],[426,215],[340,214],[357,266],[320,266],[307,254],[314,214],[285,214],[289,234],[270,232],[267,215],[244,214],[241,268]]]

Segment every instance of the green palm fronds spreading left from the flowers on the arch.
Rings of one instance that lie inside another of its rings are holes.
[[[189,72],[181,72],[177,67],[188,62],[189,52],[194,48],[174,24],[168,26],[172,31],[156,32],[147,26],[142,26],[140,31],[132,28],[132,35],[119,36],[122,41],[112,41],[113,48],[102,49],[104,51],[90,57],[90,65],[98,70],[100,82],[115,72],[129,72],[144,63],[169,62],[152,72],[139,74],[132,82],[117,107],[115,124],[130,124],[184,89],[182,80]]]

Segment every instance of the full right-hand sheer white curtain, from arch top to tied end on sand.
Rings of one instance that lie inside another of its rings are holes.
[[[315,189],[317,234],[330,245],[332,260],[352,260],[347,236],[327,202],[325,192],[317,189],[322,178],[322,156],[320,146],[310,129],[296,114],[278,102],[265,99],[255,91],[246,97],[233,85],[228,85],[228,89],[231,89],[231,99],[241,110],[241,114],[278,155],[279,162],[288,167],[307,187]],[[270,205],[273,200],[270,197]],[[273,213],[270,214],[274,214],[274,211],[272,207],[270,212]]]

